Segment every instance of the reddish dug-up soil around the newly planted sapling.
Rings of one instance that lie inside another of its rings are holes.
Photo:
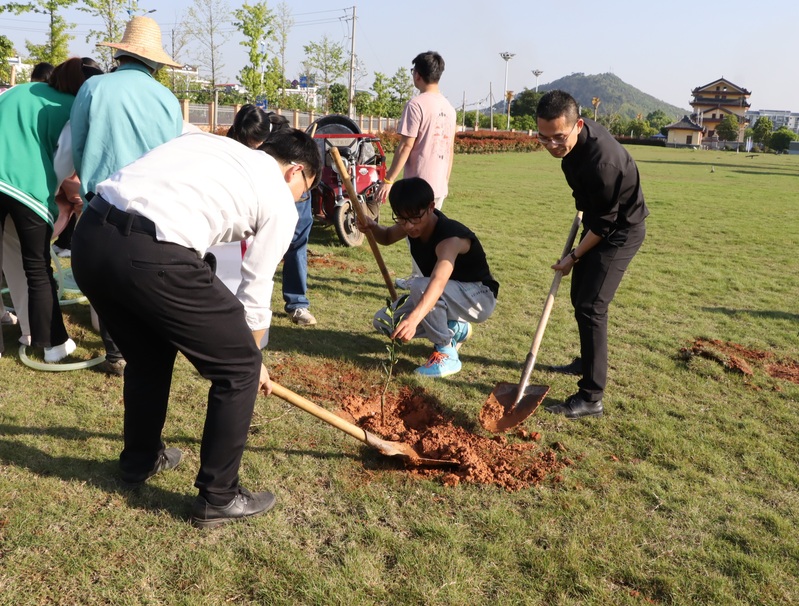
[[[329,370],[327,377],[334,380],[319,389],[339,406],[339,416],[381,438],[407,444],[421,457],[458,462],[442,468],[403,467],[412,476],[437,478],[447,486],[492,484],[517,491],[545,481],[561,482],[563,469],[574,464],[562,445],[541,445],[538,432],[518,429],[510,436],[487,437],[458,426],[421,388],[389,391],[381,413],[379,388],[355,371]],[[325,370],[308,373],[303,380],[313,383],[316,376],[325,376]],[[311,394],[317,391],[313,385],[308,388]],[[313,401],[313,395],[306,397]]]

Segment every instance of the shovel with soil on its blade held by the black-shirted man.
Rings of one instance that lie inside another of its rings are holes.
[[[577,229],[583,220],[583,213],[579,211],[572,221],[571,230],[569,230],[569,237],[566,240],[566,246],[563,248],[563,253],[559,259],[562,259],[574,246],[574,239],[577,237]],[[555,304],[555,295],[560,286],[560,280],[563,277],[561,271],[555,272],[555,277],[552,280],[552,286],[549,288],[546,302],[544,303],[544,311],[541,314],[541,319],[538,321],[538,328],[535,330],[533,337],[533,344],[530,347],[530,352],[527,354],[527,360],[524,364],[522,371],[522,378],[519,384],[515,383],[497,383],[494,390],[488,396],[488,399],[483,404],[480,410],[480,424],[488,431],[494,433],[505,432],[519,423],[524,421],[527,417],[533,414],[544,400],[544,396],[549,392],[547,385],[528,385],[530,381],[530,374],[533,372],[535,366],[535,358],[538,355],[538,348],[541,345],[541,340],[544,338],[544,330],[549,321],[549,314],[552,312],[552,306]]]

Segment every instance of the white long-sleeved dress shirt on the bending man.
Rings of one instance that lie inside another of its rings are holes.
[[[156,238],[197,251],[252,236],[236,297],[251,330],[269,327],[273,278],[297,225],[278,163],[226,137],[190,132],[160,145],[97,186],[113,206],[147,217]]]

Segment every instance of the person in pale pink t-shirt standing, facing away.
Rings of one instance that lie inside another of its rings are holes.
[[[420,94],[402,110],[397,129],[401,139],[377,194],[381,202],[388,199],[392,184],[404,170],[406,179],[421,177],[430,184],[437,209],[441,210],[444,204],[457,122],[455,108],[438,88],[443,72],[444,59],[434,51],[420,53],[413,60],[413,85]]]

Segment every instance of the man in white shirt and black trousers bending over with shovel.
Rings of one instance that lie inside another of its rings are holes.
[[[123,482],[141,484],[180,462],[161,438],[177,352],[211,381],[196,526],[275,502],[245,490],[238,472],[257,393],[271,391],[258,344],[272,317],[273,276],[297,224],[294,204],[320,172],[316,143],[299,130],[275,133],[259,150],[188,133],[98,184],[75,230],[75,280],[128,362]],[[233,295],[205,253],[250,236]]]

